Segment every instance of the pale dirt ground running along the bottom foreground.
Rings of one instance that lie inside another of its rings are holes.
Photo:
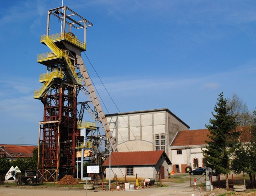
[[[182,175],[182,174],[181,174]],[[184,178],[187,178],[186,175],[184,175]],[[181,176],[182,177],[182,176]],[[236,177],[234,177],[235,179]],[[239,177],[241,179],[241,177]],[[215,181],[215,180],[214,180]],[[225,182],[225,177],[221,176],[221,181],[223,181],[223,185]],[[239,181],[240,182],[240,181]],[[174,183],[172,181],[163,182],[164,185],[168,185],[168,187],[151,187],[146,189],[139,189],[139,190],[129,190],[129,191],[109,191],[109,190],[88,190],[87,195],[88,196],[170,196],[171,190],[175,189],[176,194],[172,194],[172,196],[191,196],[191,191],[188,191],[189,187],[189,181],[186,180],[186,182],[182,183]],[[235,183],[236,184],[236,183]],[[231,182],[232,185],[232,182]],[[232,186],[230,186],[232,187]],[[191,188],[191,187],[190,187]],[[195,196],[217,196],[220,194],[225,194],[231,192],[226,189],[218,189],[215,188],[211,192],[207,191],[200,191],[196,192]],[[232,192],[232,195],[236,196],[256,196],[256,192]],[[64,187],[4,187],[0,186],[0,196],[85,196],[86,190],[83,189],[76,189],[76,188],[64,188]],[[228,195],[231,196],[231,195]]]

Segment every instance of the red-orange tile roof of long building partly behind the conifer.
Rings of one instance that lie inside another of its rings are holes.
[[[248,126],[239,126],[237,131],[241,131],[240,141],[248,142],[250,140]],[[210,135],[208,129],[178,131],[170,146],[205,145],[205,140],[210,141],[207,134]]]

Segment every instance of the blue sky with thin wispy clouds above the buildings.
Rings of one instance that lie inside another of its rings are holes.
[[[168,108],[191,129],[204,129],[221,91],[255,108],[255,1],[64,0],[64,5],[94,24],[87,29],[86,55],[121,112]],[[43,104],[33,99],[33,90],[40,88],[46,67],[36,59],[49,51],[40,44],[47,10],[59,6],[61,0],[1,2],[2,144],[19,144],[19,137],[24,144],[38,142]],[[60,32],[60,23],[51,19]],[[117,113],[83,59],[108,111]]]

